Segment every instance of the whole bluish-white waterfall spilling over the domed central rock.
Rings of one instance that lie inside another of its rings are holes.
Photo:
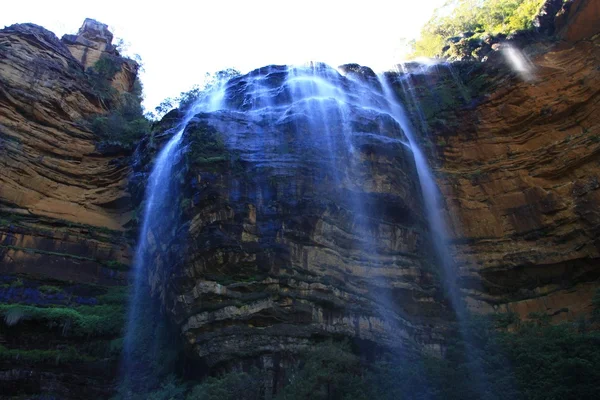
[[[251,188],[244,201],[256,205],[254,218],[260,232],[256,246],[264,244],[269,249],[278,242],[279,228],[272,221],[279,211],[269,205],[275,192],[289,195],[291,198],[285,201],[290,205],[304,201],[303,193],[297,192],[294,185],[303,183],[303,173],[313,179],[305,186],[312,191],[308,196],[318,196],[319,207],[323,206],[318,208],[325,214],[320,218],[325,222],[326,218],[337,218],[334,222],[340,224],[335,231],[325,227],[332,231],[317,232],[317,240],[322,240],[325,247],[327,241],[333,243],[339,238],[339,263],[360,271],[349,273],[348,279],[367,288],[358,298],[371,309],[368,328],[364,328],[369,330],[366,334],[371,340],[396,349],[410,343],[407,332],[413,328],[402,312],[401,294],[394,291],[405,283],[404,268],[429,263],[430,256],[417,245],[424,231],[430,232],[434,258],[460,323],[465,312],[446,243],[448,230],[439,189],[390,83],[372,71],[343,76],[324,64],[265,67],[215,86],[211,95],[186,113],[179,130],[156,157],[146,190],[124,346],[124,376],[130,382],[129,391],[156,386],[153,378],[160,376],[161,367],[169,363],[169,357],[161,353],[168,346],[163,346],[161,340],[179,339],[177,333],[169,335],[160,325],[165,318],[157,314],[160,306],[153,304],[150,296],[149,281],[156,281],[156,277],[149,275],[149,269],[154,266],[152,257],[160,253],[156,246],[165,243],[156,235],[176,231],[178,221],[173,215],[177,213],[173,210],[179,204],[170,203],[179,182],[174,179],[174,167],[185,151],[184,131],[194,117],[195,122],[211,125],[219,132],[227,151],[252,168],[251,175],[240,179]],[[372,162],[390,168],[383,175],[403,172],[378,182]],[[416,176],[411,172],[415,168]],[[402,175],[404,172],[406,175]],[[236,184],[239,186],[238,178],[232,178],[230,199],[239,197]],[[284,186],[290,189],[283,190]],[[377,204],[387,202],[396,193],[405,195],[402,200],[400,196],[392,199],[397,208],[385,214]],[[417,194],[414,201],[406,195],[409,193]],[[416,199],[418,193],[422,194],[422,205]],[[421,217],[423,210],[425,218]],[[404,220],[386,220],[386,215],[394,213],[398,215],[393,218],[406,218],[406,226],[402,225]],[[414,234],[414,244],[381,240],[385,239],[381,232],[398,226]]]

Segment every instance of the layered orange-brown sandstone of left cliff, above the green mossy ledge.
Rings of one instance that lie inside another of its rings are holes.
[[[129,219],[128,165],[100,154],[84,125],[105,109],[51,32],[14,25],[0,32],[0,46],[3,269],[44,274],[44,263],[60,262],[56,277],[104,280],[96,261],[122,262],[128,246],[102,237],[118,237]],[[51,252],[84,260],[54,261]]]

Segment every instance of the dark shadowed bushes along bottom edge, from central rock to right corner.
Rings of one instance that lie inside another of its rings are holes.
[[[600,332],[590,329],[591,322],[552,326],[545,315],[525,322],[512,313],[473,317],[464,334],[448,343],[444,358],[388,355],[369,365],[348,343],[324,342],[286,373],[276,399],[594,398],[600,390]],[[263,385],[252,370],[195,386],[171,377],[148,398],[258,400]]]

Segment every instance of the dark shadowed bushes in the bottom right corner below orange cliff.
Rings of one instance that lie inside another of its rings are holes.
[[[519,326],[516,332],[497,330],[507,321]],[[442,360],[425,357],[411,366],[379,364],[371,375],[375,395],[384,399],[578,399],[593,398],[592,393],[600,389],[598,332],[578,332],[570,324],[552,326],[544,319],[518,322],[514,315],[474,318],[467,330],[465,337],[470,340],[450,343]]]

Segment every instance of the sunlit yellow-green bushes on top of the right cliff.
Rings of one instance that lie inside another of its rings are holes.
[[[437,57],[448,44],[533,27],[545,0],[448,0],[435,10],[414,43],[413,57]],[[462,43],[465,44],[465,43]]]

